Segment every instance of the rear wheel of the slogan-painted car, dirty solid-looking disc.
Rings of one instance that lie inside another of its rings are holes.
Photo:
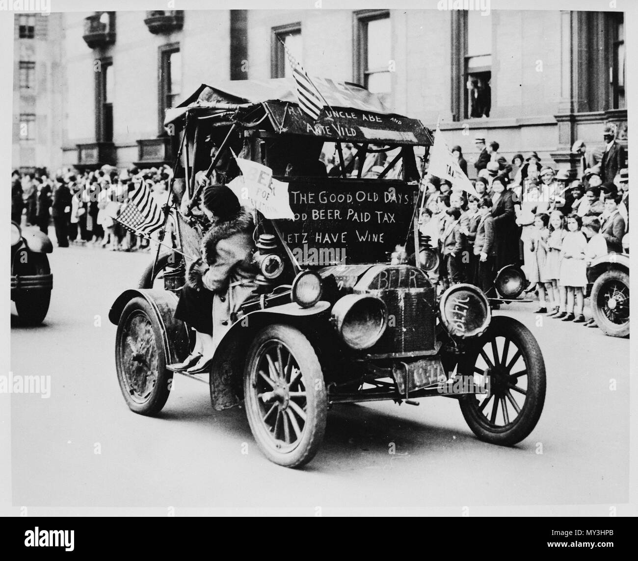
[[[117,381],[131,411],[150,416],[164,407],[173,379],[166,364],[158,317],[144,298],[133,298],[122,311],[115,335]]]

